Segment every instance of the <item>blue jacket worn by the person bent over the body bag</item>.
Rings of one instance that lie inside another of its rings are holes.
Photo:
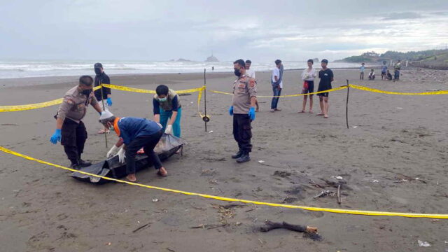
[[[151,136],[162,130],[152,120],[146,118],[125,117],[118,120],[118,137],[123,138],[125,144],[130,144],[137,137]]]

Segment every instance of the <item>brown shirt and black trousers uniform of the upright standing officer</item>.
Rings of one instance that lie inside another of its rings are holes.
[[[252,151],[252,127],[248,112],[251,108],[251,97],[256,96],[255,79],[243,75],[233,83],[233,137],[238,143],[239,150],[245,153]]]

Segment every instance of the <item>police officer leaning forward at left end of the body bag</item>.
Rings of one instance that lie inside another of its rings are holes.
[[[57,144],[58,141],[61,141],[73,169],[91,165],[89,162],[81,159],[85,140],[87,139],[87,131],[81,120],[83,120],[89,104],[92,104],[98,113],[102,113],[102,109],[92,92],[92,87],[93,78],[81,76],[79,85],[66,92],[55,116],[56,130],[52,134],[50,141],[52,144]]]

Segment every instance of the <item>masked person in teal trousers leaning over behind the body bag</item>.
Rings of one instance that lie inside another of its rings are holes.
[[[155,88],[153,107],[154,121],[162,125],[165,134],[181,137],[182,105],[179,94],[166,85],[158,85]]]

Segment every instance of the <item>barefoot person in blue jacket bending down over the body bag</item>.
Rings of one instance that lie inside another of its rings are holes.
[[[131,182],[136,182],[135,176],[135,156],[140,148],[150,158],[155,169],[158,169],[159,176],[167,176],[167,170],[160,162],[159,156],[155,154],[154,148],[158,144],[160,137],[162,137],[162,127],[152,120],[145,118],[117,118],[109,111],[104,111],[99,117],[99,123],[102,123],[109,130],[116,132],[120,139],[117,144],[112,146],[107,153],[107,158],[111,158],[120,146],[123,148],[118,151],[118,158],[120,162],[126,160],[126,179]]]

